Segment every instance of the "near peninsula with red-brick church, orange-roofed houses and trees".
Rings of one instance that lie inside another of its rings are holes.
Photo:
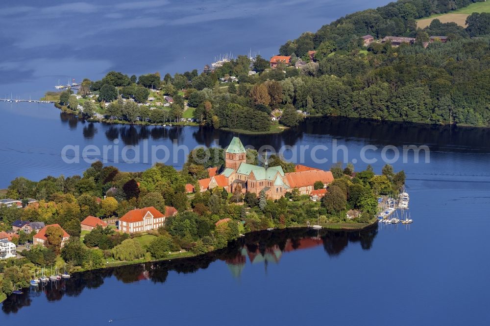
[[[0,202],[1,292],[29,286],[45,267],[73,273],[196,256],[273,228],[364,229],[382,209],[377,198],[397,195],[405,182],[390,165],[375,175],[352,164],[324,171],[275,155],[261,160],[237,137],[214,155],[204,151],[191,152],[181,171],[156,164],[121,172],[96,162],[83,176],[13,180],[11,199]]]

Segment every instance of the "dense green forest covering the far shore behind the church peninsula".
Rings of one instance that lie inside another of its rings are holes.
[[[279,63],[276,69],[260,56],[238,56],[215,70],[167,73],[163,79],[159,73],[137,78],[111,71],[102,80],[84,80],[79,93],[98,94],[100,108],[96,101],[86,101],[83,114],[97,111],[120,122],[165,123],[179,121],[191,110],[197,123],[256,132],[268,132],[278,123],[295,126],[305,115],[488,126],[490,14],[468,16],[466,28],[437,19],[424,29],[416,23],[472,2],[400,0],[347,15],[287,41],[279,54],[291,56],[291,65]],[[361,37],[366,34],[378,40],[413,37],[415,42],[392,47],[375,41],[364,47]],[[430,35],[446,36],[447,42],[424,47]],[[310,57],[308,51],[316,52]],[[304,65],[296,69],[298,60]],[[136,105],[147,101],[148,89],[173,96],[173,104],[153,110]],[[69,93],[62,94],[64,109],[78,104]],[[271,121],[272,112],[280,112],[279,121]]]

